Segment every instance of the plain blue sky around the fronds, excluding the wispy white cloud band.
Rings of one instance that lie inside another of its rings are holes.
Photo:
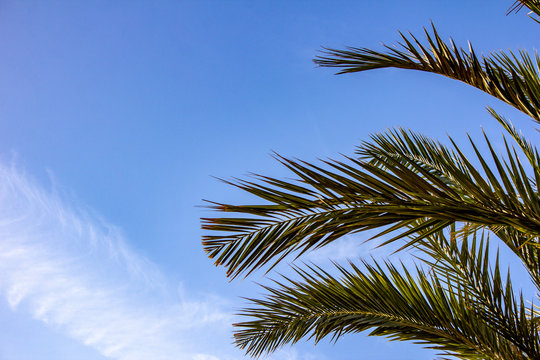
[[[0,158],[44,184],[52,176],[171,281],[228,298],[234,311],[239,296],[259,290],[251,279],[229,283],[205,257],[199,218],[210,214],[198,206],[248,197],[212,176],[282,176],[271,151],[338,157],[395,126],[462,143],[482,128],[497,137],[486,105],[532,134],[507,105],[442,77],[333,76],[311,62],[321,46],[380,48],[433,21],[443,38],[471,40],[478,52],[532,49],[540,28],[525,12],[505,16],[511,3],[4,0]],[[364,335],[298,349],[326,359],[433,358]],[[0,301],[0,360],[102,358]]]

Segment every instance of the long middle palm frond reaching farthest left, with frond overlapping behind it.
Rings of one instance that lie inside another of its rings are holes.
[[[375,135],[358,150],[362,159],[316,166],[278,158],[299,182],[258,177],[234,184],[259,199],[256,205],[214,204],[232,216],[203,219],[203,246],[229,276],[276,264],[290,253],[324,246],[353,232],[383,228],[389,241],[410,243],[456,221],[492,229],[511,227],[538,246],[540,199],[535,181],[511,147],[507,161],[491,151],[489,165],[471,140],[473,164],[455,144],[448,149],[404,130]],[[494,169],[492,169],[492,167]],[[266,202],[266,203],[265,203]],[[418,220],[419,226],[411,225]]]

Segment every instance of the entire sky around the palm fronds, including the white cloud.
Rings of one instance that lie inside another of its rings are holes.
[[[286,176],[271,151],[338,157],[395,126],[500,140],[488,104],[531,132],[458,82],[311,62],[321,46],[378,48],[430,21],[479,52],[532,50],[540,28],[505,16],[511,3],[2,1],[0,360],[242,359],[230,324],[265,280],[229,283],[205,257],[201,199],[249,199],[212,176]],[[310,259],[365,256],[361,240]],[[271,358],[433,353],[359,334]]]

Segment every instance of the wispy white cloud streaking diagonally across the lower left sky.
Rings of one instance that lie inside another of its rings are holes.
[[[216,331],[230,342],[219,301],[180,296],[118,228],[69,203],[0,164],[0,292],[9,306],[112,359],[221,358],[197,344]]]

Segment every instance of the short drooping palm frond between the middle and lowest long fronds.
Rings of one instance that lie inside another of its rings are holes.
[[[523,352],[534,349],[539,353],[537,325],[531,320],[535,313],[525,306],[521,295],[516,300],[509,272],[503,281],[498,250],[494,260],[489,254],[488,234],[482,231],[478,237],[477,231],[471,232],[466,226],[461,236],[456,236],[457,233],[453,227],[449,237],[441,231],[424,238],[416,246],[426,255],[421,259],[448,289],[467,294],[478,314],[501,336],[519,344]],[[537,262],[537,269],[538,265]],[[540,284],[536,275],[531,280],[536,286]]]

